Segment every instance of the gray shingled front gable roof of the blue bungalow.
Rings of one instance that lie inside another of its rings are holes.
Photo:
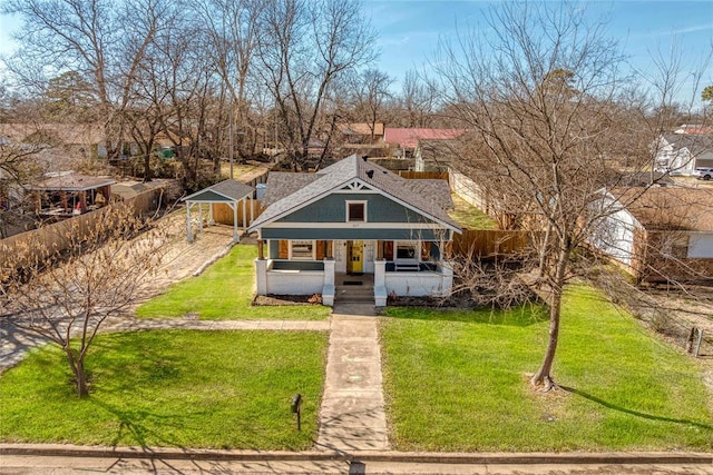
[[[300,209],[305,204],[349,185],[349,182],[355,178],[367,185],[380,189],[397,200],[412,206],[431,219],[459,229],[458,225],[456,225],[443,210],[443,205],[448,205],[450,201],[450,194],[448,194],[448,199],[445,198],[446,190],[448,189],[448,184],[445,181],[442,181],[442,185],[438,185],[434,184],[437,180],[408,180],[383,167],[365,161],[355,155],[343,158],[313,176],[314,179],[302,188],[282,197],[268,206],[267,209],[265,209],[265,211],[253,222],[251,230],[255,230],[266,222],[289,215],[290,212]],[[286,177],[281,177],[279,178],[279,181],[283,181],[285,179]],[[304,181],[307,180],[305,179]]]

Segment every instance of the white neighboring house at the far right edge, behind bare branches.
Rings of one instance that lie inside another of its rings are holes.
[[[692,175],[696,168],[713,167],[713,139],[703,135],[666,133],[656,146],[656,171]]]

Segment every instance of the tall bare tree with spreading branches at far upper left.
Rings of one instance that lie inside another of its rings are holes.
[[[42,90],[46,76],[74,71],[96,98],[109,159],[121,152],[124,116],[135,72],[160,22],[164,0],[8,0],[1,12],[18,14],[22,47],[8,61],[26,87]]]

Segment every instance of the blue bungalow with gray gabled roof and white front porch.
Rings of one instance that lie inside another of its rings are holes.
[[[255,261],[258,295],[321,294],[325,305],[373,281],[389,295],[448,296],[448,182],[408,180],[356,156],[316,174],[271,172]],[[354,284],[350,287],[349,284]],[[363,288],[363,287],[362,287]]]

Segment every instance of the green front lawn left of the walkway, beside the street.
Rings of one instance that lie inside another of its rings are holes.
[[[78,399],[55,346],[0,378],[2,442],[302,451],[316,436],[326,333],[100,335]],[[304,396],[302,432],[290,402]]]

